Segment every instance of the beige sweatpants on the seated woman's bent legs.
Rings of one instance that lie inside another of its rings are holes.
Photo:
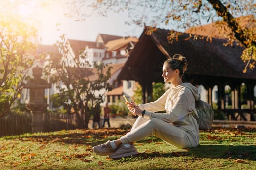
[[[167,123],[158,118],[138,117],[134,122],[131,131],[121,137],[122,143],[131,143],[155,135],[170,145],[177,148],[193,148],[198,146],[194,139],[190,140],[191,135],[186,131]]]

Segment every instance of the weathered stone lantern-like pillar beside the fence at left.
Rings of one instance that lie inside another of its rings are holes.
[[[27,108],[32,114],[32,133],[43,132],[44,122],[43,113],[47,111],[47,101],[44,99],[44,92],[46,88],[51,88],[51,85],[46,81],[41,79],[42,68],[36,66],[32,69],[34,79],[30,79],[24,88],[29,89],[29,104]]]

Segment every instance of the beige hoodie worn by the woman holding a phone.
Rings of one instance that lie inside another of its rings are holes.
[[[142,110],[146,110],[145,118],[158,118],[172,123],[174,126],[186,131],[190,140],[199,143],[199,126],[192,116],[193,112],[197,114],[195,100],[198,99],[197,88],[191,83],[182,83],[177,87],[168,89],[156,101],[139,104],[139,107]],[[166,113],[156,113],[164,110]]]

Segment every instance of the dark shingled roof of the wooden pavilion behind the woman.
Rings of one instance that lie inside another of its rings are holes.
[[[193,40],[186,33],[181,33],[178,41],[169,43],[167,37],[170,30],[157,29],[152,35],[145,34],[145,31],[141,34],[118,79],[136,80],[131,69],[145,68],[146,64],[148,68],[159,71],[160,62],[162,64],[164,59],[178,53],[188,60],[187,74],[256,80],[256,69],[248,70],[247,73],[242,72],[245,64],[240,56],[244,48],[235,43],[233,46],[223,46],[225,39],[213,38],[212,42],[206,38]]]

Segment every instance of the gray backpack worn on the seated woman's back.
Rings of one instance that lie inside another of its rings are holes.
[[[213,123],[214,112],[210,104],[202,101],[200,98],[198,101],[195,101],[195,108],[198,113],[198,117],[193,112],[192,115],[199,124],[200,130],[211,129]]]

